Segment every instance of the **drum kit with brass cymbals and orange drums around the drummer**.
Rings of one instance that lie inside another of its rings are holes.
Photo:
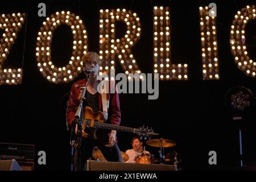
[[[164,148],[174,147],[177,144],[176,142],[169,140],[169,139],[160,138],[160,139],[148,140],[146,142],[146,144],[151,147],[160,148],[160,151],[159,151],[160,161],[158,162],[158,160],[154,160],[154,155],[146,153],[145,147],[144,147],[142,154],[137,155],[135,157],[135,163],[140,163],[140,164],[154,164],[154,163],[177,164],[177,163],[179,163],[179,162],[177,162],[177,152],[176,151],[168,153],[166,156],[164,155]],[[104,156],[102,155],[101,151],[97,147],[94,147],[92,154],[93,154],[93,158],[95,160],[107,161],[104,158]],[[127,160],[129,160],[129,156],[125,152],[121,151],[121,154],[123,157],[123,162],[126,162]]]

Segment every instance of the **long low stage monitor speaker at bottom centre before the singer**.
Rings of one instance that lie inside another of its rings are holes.
[[[176,165],[97,162],[87,160],[87,171],[177,171]]]

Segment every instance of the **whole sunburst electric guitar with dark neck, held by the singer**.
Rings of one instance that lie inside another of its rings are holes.
[[[92,108],[86,106],[82,111],[82,130],[85,133],[89,134],[90,137],[97,139],[96,131],[97,129],[105,129],[105,130],[116,130],[116,131],[124,131],[128,133],[134,133],[138,135],[138,137],[144,139],[150,139],[155,134],[154,131],[148,128],[138,127],[137,129],[125,126],[112,125],[108,123],[104,123],[104,115],[101,111],[93,112]]]

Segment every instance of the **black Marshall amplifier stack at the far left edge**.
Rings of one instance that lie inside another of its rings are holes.
[[[16,162],[18,162],[23,171],[34,170],[34,156],[35,145],[0,143],[0,160],[14,159]]]

